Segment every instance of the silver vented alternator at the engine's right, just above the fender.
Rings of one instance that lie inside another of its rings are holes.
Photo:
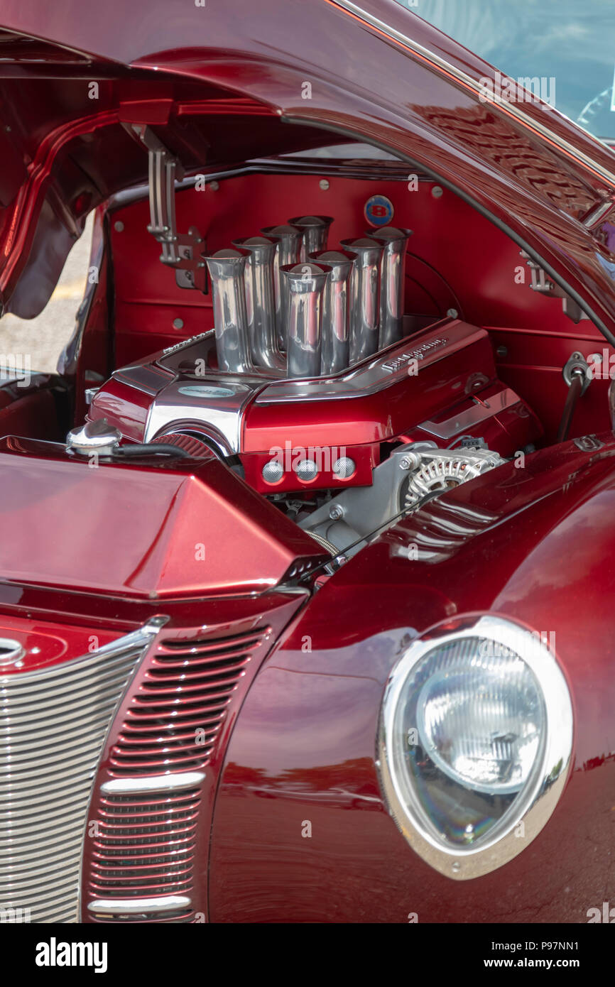
[[[499,453],[479,448],[438,449],[419,456],[420,464],[410,473],[404,497],[407,510],[416,510],[432,496],[474,480],[504,462]]]

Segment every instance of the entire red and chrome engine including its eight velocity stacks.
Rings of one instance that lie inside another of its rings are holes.
[[[404,313],[410,230],[329,249],[331,222],[293,217],[204,254],[214,329],[115,371],[88,421],[127,451],[217,456],[339,564],[542,428],[486,330]]]

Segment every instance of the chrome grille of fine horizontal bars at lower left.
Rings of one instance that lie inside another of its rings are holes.
[[[0,675],[0,909],[74,922],[83,834],[110,722],[156,619],[83,657]]]

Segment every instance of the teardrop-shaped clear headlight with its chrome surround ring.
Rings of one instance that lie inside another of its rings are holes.
[[[385,694],[379,767],[389,809],[432,867],[501,867],[542,829],[566,781],[573,711],[555,656],[496,617],[415,642]]]

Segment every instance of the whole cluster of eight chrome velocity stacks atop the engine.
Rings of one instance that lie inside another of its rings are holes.
[[[385,227],[327,250],[331,216],[295,216],[205,257],[218,367],[331,376],[403,339],[410,230]]]

